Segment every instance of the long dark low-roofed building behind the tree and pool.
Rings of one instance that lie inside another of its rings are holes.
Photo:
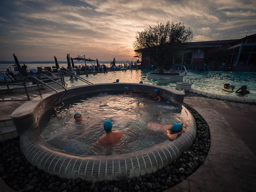
[[[156,65],[156,62],[142,53],[142,67]],[[241,39],[200,41],[186,43],[179,56],[166,59],[165,68],[188,70],[224,70],[256,72],[256,34]]]

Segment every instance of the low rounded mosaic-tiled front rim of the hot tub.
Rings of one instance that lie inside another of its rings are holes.
[[[192,114],[187,114],[186,133],[176,140],[128,154],[111,156],[74,156],[53,151],[37,142],[35,134],[26,131],[20,137],[20,148],[26,159],[38,169],[65,178],[81,178],[87,181],[120,180],[151,174],[190,148],[196,136],[196,124]]]

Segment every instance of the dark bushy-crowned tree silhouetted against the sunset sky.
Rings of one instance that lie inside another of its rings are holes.
[[[184,23],[158,23],[154,27],[136,32],[133,43],[134,51],[138,54],[151,56],[159,65],[159,73],[163,74],[164,60],[173,58],[193,39],[193,31],[186,28]]]

